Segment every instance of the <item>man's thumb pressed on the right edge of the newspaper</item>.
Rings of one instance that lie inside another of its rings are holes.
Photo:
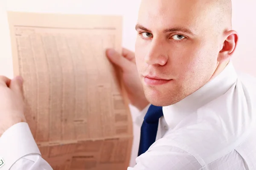
[[[114,49],[107,49],[106,51],[108,59],[114,64],[118,65],[122,70],[125,70],[130,66],[130,61],[119,54]]]

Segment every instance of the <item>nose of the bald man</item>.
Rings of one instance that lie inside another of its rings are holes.
[[[148,65],[165,65],[168,60],[163,40],[153,39],[144,60]]]

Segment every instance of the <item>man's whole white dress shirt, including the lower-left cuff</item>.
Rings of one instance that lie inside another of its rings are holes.
[[[198,91],[163,107],[157,141],[128,170],[256,170],[255,85],[230,62]],[[26,123],[0,138],[1,158],[0,170],[52,170]]]

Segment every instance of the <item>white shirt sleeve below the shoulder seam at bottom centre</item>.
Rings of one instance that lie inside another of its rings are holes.
[[[202,170],[201,164],[186,151],[172,146],[155,146],[137,157],[128,170]]]

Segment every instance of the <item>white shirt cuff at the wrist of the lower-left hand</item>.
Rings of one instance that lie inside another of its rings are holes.
[[[0,170],[9,170],[18,159],[29,154],[41,155],[26,122],[13,125],[0,137]]]

